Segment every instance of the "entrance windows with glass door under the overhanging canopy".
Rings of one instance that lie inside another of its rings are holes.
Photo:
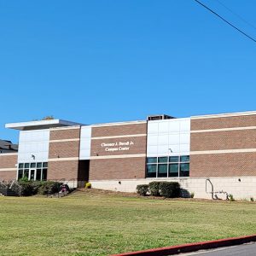
[[[47,180],[47,162],[39,163],[19,163],[17,173],[18,179],[27,177],[30,180]]]

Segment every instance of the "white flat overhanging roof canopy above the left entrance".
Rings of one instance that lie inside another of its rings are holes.
[[[20,123],[9,123],[5,125],[5,128],[15,129],[20,131],[30,131],[30,130],[40,130],[40,129],[49,129],[54,127],[62,126],[75,126],[83,125],[79,123],[74,123],[62,119],[49,119],[49,120],[38,120],[38,121],[29,121],[29,122],[20,122]]]

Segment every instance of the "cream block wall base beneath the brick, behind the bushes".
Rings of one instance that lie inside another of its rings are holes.
[[[194,193],[195,198],[212,199],[212,186],[214,198],[226,199],[227,194],[234,196],[235,200],[256,200],[256,177],[188,177],[188,178],[142,178],[125,180],[98,180],[90,181],[94,189],[106,189],[120,192],[136,192],[138,184],[148,184],[152,181],[178,182],[182,189]],[[212,183],[212,185],[211,185]]]

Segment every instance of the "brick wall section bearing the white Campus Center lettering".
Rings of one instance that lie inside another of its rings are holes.
[[[146,133],[146,122],[92,127],[89,179],[145,177]],[[104,143],[110,146],[105,146]],[[107,148],[118,150],[108,151]]]

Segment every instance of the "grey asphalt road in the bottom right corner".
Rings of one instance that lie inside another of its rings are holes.
[[[180,256],[255,256],[256,255],[256,243],[247,243],[234,247],[220,247],[218,249],[199,251],[195,253],[182,253],[177,254]]]

